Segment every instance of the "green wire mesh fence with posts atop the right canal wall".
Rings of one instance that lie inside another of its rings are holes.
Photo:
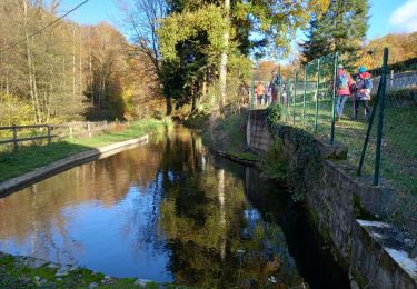
[[[280,103],[284,123],[345,143],[358,175],[417,197],[417,59],[390,63],[388,52],[364,51],[356,63],[336,52],[277,71],[269,81],[255,76],[251,106]],[[350,92],[344,97],[338,96],[340,64],[350,77]],[[367,99],[357,89],[359,67],[369,77]],[[265,86],[262,101],[259,83]]]

